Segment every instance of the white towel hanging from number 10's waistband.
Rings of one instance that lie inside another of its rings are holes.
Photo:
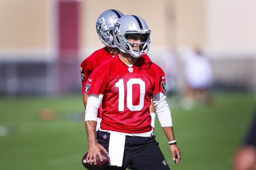
[[[121,134],[110,134],[109,139],[109,158],[110,166],[118,166],[121,167],[123,164],[124,157],[124,144],[125,144],[125,136]]]

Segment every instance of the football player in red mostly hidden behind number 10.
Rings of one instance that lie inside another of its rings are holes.
[[[96,69],[100,64],[104,63],[105,61],[109,60],[116,54],[120,52],[120,50],[116,47],[113,42],[113,26],[115,22],[124,16],[124,14],[115,9],[109,9],[104,11],[100,16],[97,18],[96,21],[96,31],[98,38],[100,41],[105,45],[104,48],[96,50],[93,52],[88,58],[86,58],[81,63],[81,78],[82,78],[82,92],[83,92],[83,103],[86,107],[88,95],[84,92],[86,90],[85,82],[88,80],[89,75]],[[145,54],[143,55],[144,58],[150,60],[150,58]],[[151,116],[152,116],[152,127],[155,124],[155,110],[152,106],[150,108]],[[102,108],[99,108],[98,111],[98,118],[97,118],[97,130],[100,127],[101,121],[101,112]]]

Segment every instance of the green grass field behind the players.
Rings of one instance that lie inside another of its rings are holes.
[[[235,150],[250,126],[255,98],[248,92],[212,96],[212,107],[171,108],[182,153],[178,165],[156,119],[156,139],[171,170],[231,170]],[[42,112],[53,120],[42,120]],[[0,170],[84,170],[83,112],[81,95],[0,98]]]

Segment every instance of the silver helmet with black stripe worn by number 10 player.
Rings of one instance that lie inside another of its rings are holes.
[[[130,53],[135,58],[140,57],[142,54],[147,54],[150,44],[150,30],[147,23],[137,15],[125,15],[117,20],[114,25],[114,43],[121,50],[121,52]],[[138,45],[138,51],[134,51],[132,46],[126,39],[128,34],[141,34],[143,40]],[[143,53],[144,52],[144,53]]]

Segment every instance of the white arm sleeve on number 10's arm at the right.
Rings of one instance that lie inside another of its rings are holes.
[[[173,126],[171,111],[166,101],[165,93],[159,92],[157,94],[153,94],[152,99],[161,127]]]

